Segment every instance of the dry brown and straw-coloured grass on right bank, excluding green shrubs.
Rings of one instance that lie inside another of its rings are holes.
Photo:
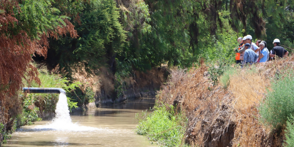
[[[282,146],[284,132],[260,123],[260,102],[266,99],[270,81],[291,72],[294,55],[235,69],[227,89],[213,85],[205,64],[172,69],[166,85],[157,96],[159,102],[176,106],[188,118],[185,141],[191,146]],[[293,71],[292,71],[293,72]]]

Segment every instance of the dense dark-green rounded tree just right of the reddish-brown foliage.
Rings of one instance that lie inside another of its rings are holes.
[[[118,18],[119,11],[113,0],[94,0],[87,4],[80,14],[80,24],[75,23],[79,37],[51,40],[51,51],[61,67],[70,71],[69,65],[76,64],[89,71],[107,61],[113,66],[126,40],[126,32]]]

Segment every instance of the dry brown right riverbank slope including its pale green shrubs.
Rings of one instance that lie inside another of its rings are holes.
[[[242,69],[235,65],[217,83],[205,62],[188,70],[176,68],[157,103],[176,106],[188,118],[182,145],[291,146],[293,65],[293,55]]]

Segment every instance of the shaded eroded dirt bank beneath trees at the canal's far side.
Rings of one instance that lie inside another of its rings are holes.
[[[165,67],[153,68],[149,71],[134,71],[131,77],[116,81],[115,76],[107,68],[101,67],[94,74],[83,71],[73,74],[75,81],[87,83],[95,93],[96,107],[120,103],[135,98],[155,98],[156,91],[166,82],[169,72]],[[119,83],[118,83],[119,82]],[[118,95],[118,85],[121,95]],[[93,103],[85,105],[93,108]]]

